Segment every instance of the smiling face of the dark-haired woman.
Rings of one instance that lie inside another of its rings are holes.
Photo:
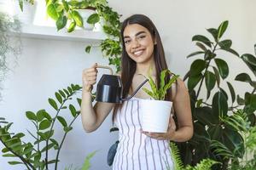
[[[153,61],[154,41],[147,28],[131,24],[124,30],[125,51],[137,64]]]

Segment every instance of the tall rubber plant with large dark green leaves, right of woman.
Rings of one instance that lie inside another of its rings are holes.
[[[189,54],[188,58],[195,56],[199,58],[192,62],[184,80],[188,80],[195,135],[189,142],[178,144],[185,164],[195,165],[204,158],[211,158],[221,162],[213,166],[213,169],[227,169],[230,157],[216,154],[211,148],[211,141],[216,140],[229,150],[236,150],[236,157],[239,158],[244,155],[245,149],[237,148],[243,143],[241,133],[230,127],[229,123],[224,122],[224,117],[229,116],[239,107],[247,113],[251,125],[255,125],[253,113],[256,110],[256,83],[246,72],[238,74],[235,80],[248,83],[252,90],[248,89],[244,96],[236,95],[236,88],[227,81],[230,67],[224,60],[226,56],[223,52],[241,59],[253,72],[254,79],[256,58],[253,54],[240,55],[231,48],[232,41],[223,38],[228,25],[229,22],[226,20],[218,28],[207,29],[211,35],[210,38],[203,35],[192,37],[192,41],[199,50]],[[203,87],[207,90],[207,96],[200,95]],[[224,89],[229,89],[229,92]]]

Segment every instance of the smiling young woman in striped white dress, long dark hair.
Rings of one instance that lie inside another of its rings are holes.
[[[143,14],[127,18],[121,28],[121,80],[123,96],[127,97],[150,76],[159,84],[160,71],[167,69],[160,35],[153,22]],[[135,97],[122,105],[98,102],[91,104],[90,88],[96,83],[96,64],[83,71],[81,115],[87,133],[95,131],[113,110],[113,122],[119,127],[119,145],[113,169],[173,169],[169,141],[183,142],[193,135],[189,94],[184,82],[177,80],[166,95],[173,102],[177,126],[169,120],[167,133],[148,133],[141,130],[140,100],[150,96],[139,90]],[[142,76],[143,75],[143,76]],[[148,82],[144,84],[149,88]]]

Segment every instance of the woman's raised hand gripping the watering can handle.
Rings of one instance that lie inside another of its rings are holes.
[[[97,69],[96,65],[92,65],[88,69],[84,69],[83,74],[82,74],[82,81],[83,81],[83,88],[87,91],[90,92],[92,89],[92,86],[96,83],[96,77],[97,77]]]

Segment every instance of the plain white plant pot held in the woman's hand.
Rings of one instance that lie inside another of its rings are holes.
[[[166,133],[172,110],[172,102],[143,99],[140,103],[143,131]]]

